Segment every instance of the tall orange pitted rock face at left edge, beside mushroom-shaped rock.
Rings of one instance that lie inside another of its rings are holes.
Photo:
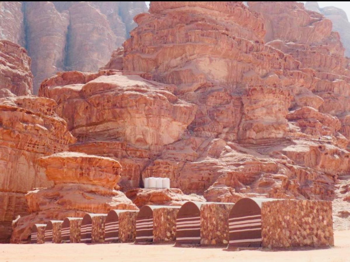
[[[12,220],[28,214],[24,195],[52,185],[36,165],[37,158],[67,151],[75,139],[53,112],[54,100],[15,96],[8,89],[1,89],[0,97],[0,241],[7,242]]]

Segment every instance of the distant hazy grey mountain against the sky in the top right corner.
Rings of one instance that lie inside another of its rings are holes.
[[[334,6],[321,8],[318,6],[317,2],[306,2],[305,8],[323,14],[332,21],[332,31],[339,33],[340,39],[345,47],[345,55],[350,57],[350,23],[344,10]]]

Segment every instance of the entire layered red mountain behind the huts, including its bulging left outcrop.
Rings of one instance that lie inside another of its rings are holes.
[[[208,201],[348,202],[346,179],[337,184],[350,171],[349,61],[330,20],[296,2],[151,2],[149,12],[103,70],[42,83],[78,138],[72,150],[124,159],[123,190],[168,177]]]

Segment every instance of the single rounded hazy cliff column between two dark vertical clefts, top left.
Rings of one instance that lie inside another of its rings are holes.
[[[40,83],[64,70],[69,13],[59,13],[51,2],[27,2],[25,8],[27,50],[32,59],[34,93]],[[50,30],[49,30],[50,29]]]

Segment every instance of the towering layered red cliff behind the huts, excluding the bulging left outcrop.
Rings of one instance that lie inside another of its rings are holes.
[[[247,6],[152,2],[134,18],[104,69],[146,72],[197,106],[141,176],[210,201],[334,200],[334,215],[348,217],[335,227],[348,228],[349,61],[339,34],[302,3]]]

